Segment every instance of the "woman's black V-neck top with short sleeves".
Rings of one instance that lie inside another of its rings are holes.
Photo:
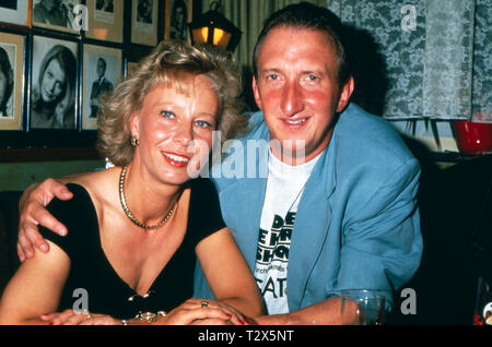
[[[48,211],[67,226],[68,235],[61,237],[39,228],[43,237],[58,244],[71,262],[59,310],[86,308],[90,312],[129,319],[139,312],[168,312],[191,298],[197,263],[195,247],[209,235],[224,228],[225,224],[212,181],[199,178],[189,184],[191,196],[185,238],[145,297],[136,295],[107,260],[101,246],[95,207],[87,191],[79,184],[67,184],[73,198],[68,201],[54,199]],[[84,307],[85,298],[87,307]]]

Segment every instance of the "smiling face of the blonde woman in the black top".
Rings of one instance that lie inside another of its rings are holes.
[[[192,77],[189,95],[155,87],[130,121],[140,142],[133,163],[162,182],[183,184],[210,154],[218,111],[218,95],[203,75]]]

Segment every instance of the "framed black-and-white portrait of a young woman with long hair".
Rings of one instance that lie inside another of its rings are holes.
[[[33,36],[30,124],[75,129],[78,43]]]

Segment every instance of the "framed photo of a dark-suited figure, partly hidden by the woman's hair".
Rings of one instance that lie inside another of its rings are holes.
[[[84,45],[82,130],[97,129],[99,100],[121,81],[120,49]]]

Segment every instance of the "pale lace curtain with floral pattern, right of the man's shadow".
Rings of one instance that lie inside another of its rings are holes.
[[[407,31],[406,5],[415,11]],[[385,117],[492,122],[490,0],[332,0],[328,7],[380,49]]]

